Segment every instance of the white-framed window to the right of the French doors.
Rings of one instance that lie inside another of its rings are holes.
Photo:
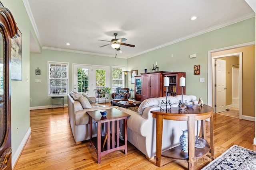
[[[124,87],[124,67],[112,66],[112,92],[116,92],[117,87]]]

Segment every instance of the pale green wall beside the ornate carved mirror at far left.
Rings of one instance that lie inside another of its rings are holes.
[[[14,164],[14,159],[18,158],[19,151],[26,142],[24,137],[30,131],[30,84],[26,82],[26,76],[30,76],[30,30],[32,35],[35,33],[22,0],[1,0],[1,2],[12,12],[22,33],[22,81],[11,81],[12,164]],[[17,126],[18,133],[16,133]]]

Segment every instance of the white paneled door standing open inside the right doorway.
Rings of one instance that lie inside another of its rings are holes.
[[[216,59],[215,66],[215,113],[226,110],[226,61]]]

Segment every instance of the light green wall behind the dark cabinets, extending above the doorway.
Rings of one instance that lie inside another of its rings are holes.
[[[127,66],[128,70],[138,70],[140,75],[144,68],[150,72],[157,61],[160,71],[186,72],[186,94],[193,94],[197,99],[201,97],[207,104],[208,51],[252,41],[255,41],[255,18],[129,58]],[[196,58],[190,59],[195,53]],[[200,75],[193,72],[197,64],[200,64]],[[199,78],[204,78],[205,82],[199,82]],[[129,88],[134,88],[134,84],[129,84]]]

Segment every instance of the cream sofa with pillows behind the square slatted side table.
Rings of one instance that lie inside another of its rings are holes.
[[[86,96],[87,97],[87,96]],[[118,108],[118,106],[103,107],[96,103],[95,97],[89,97],[89,100],[77,92],[68,94],[68,116],[76,144],[88,140],[89,136],[89,115],[87,111]],[[93,137],[97,136],[97,124],[93,122]]]

